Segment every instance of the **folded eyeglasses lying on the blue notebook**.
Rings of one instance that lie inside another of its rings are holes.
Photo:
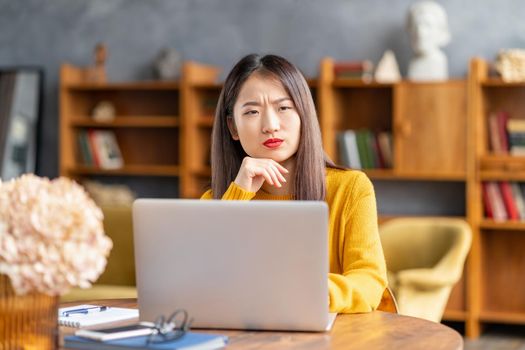
[[[147,344],[164,343],[182,338],[190,329],[192,318],[184,309],[175,310],[167,319],[159,316],[151,327],[154,332],[149,336]]]

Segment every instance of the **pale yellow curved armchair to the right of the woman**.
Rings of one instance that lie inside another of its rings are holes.
[[[440,322],[472,232],[461,219],[399,218],[379,227],[399,313]]]

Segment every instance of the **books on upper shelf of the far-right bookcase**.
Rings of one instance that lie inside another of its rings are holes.
[[[510,118],[507,112],[491,113],[489,139],[495,154],[525,156],[525,119]]]

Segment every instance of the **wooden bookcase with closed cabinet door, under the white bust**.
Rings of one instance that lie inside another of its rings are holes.
[[[372,180],[466,183],[466,80],[384,84],[337,78],[333,67],[331,58],[321,62],[318,100],[324,147],[335,162],[340,163],[338,132],[386,130],[392,133],[393,167],[365,169]],[[467,320],[466,273],[444,319]]]

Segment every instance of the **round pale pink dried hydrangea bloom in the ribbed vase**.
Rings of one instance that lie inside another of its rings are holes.
[[[82,186],[35,175],[0,181],[0,274],[17,294],[87,288],[112,248],[103,214]]]

